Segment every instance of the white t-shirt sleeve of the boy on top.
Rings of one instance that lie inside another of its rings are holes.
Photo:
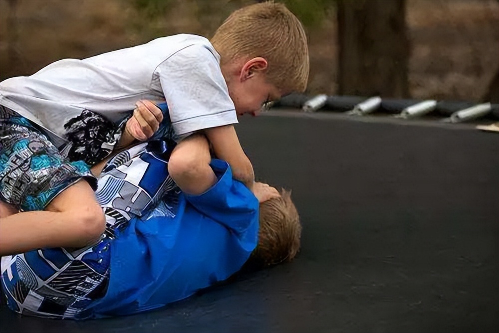
[[[190,45],[156,68],[172,126],[181,138],[238,123],[218,55],[213,52],[207,45]]]

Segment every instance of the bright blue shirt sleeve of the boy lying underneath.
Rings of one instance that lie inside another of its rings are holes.
[[[217,175],[217,183],[200,195],[185,197],[203,215],[243,235],[251,226],[258,225],[258,199],[242,182],[233,179],[227,162],[213,159],[210,166]]]

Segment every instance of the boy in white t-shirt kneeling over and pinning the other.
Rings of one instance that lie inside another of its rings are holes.
[[[252,189],[253,169],[233,126],[237,116],[255,115],[270,100],[304,91],[308,72],[301,23],[283,4],[265,2],[235,11],[211,41],[163,37],[60,60],[1,82],[0,255],[79,247],[101,235],[105,218],[87,164],[112,151],[125,127],[117,124],[138,100],[166,101],[174,139],[204,134],[234,177]],[[153,111],[149,116],[122,123],[143,140],[155,130],[150,124],[161,121]],[[172,166],[172,177],[188,193],[199,188],[193,186],[196,173],[209,167],[195,157]],[[12,206],[22,212],[11,214]]]

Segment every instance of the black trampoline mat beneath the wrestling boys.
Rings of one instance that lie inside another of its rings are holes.
[[[499,136],[278,112],[237,130],[257,178],[293,190],[294,262],[123,318],[2,305],[1,332],[498,332]]]

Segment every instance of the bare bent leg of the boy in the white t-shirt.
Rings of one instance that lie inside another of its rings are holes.
[[[0,218],[0,256],[43,247],[82,247],[105,228],[104,213],[85,180],[71,185],[45,211]]]

